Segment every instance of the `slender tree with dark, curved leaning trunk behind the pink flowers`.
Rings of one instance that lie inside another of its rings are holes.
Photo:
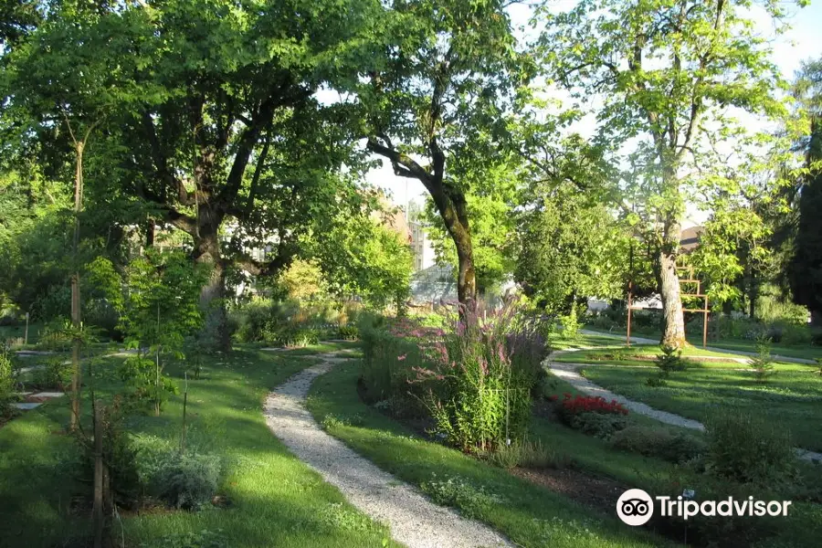
[[[367,149],[426,187],[454,241],[466,306],[476,297],[476,272],[468,181],[460,175],[488,159],[472,145],[495,133],[518,76],[503,8],[500,0],[391,2],[383,51],[357,88]]]

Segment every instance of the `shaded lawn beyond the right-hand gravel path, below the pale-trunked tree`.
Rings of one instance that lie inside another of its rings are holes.
[[[790,431],[796,445],[822,450],[822,377],[808,366],[777,365],[775,376],[757,383],[747,371],[692,368],[671,374],[668,385],[645,385],[648,370],[591,366],[585,377],[648,406],[705,421],[711,413],[740,408]]]

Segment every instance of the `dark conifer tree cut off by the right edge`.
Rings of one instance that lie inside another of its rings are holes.
[[[810,121],[806,137],[806,173],[799,190],[796,248],[789,266],[794,300],[810,309],[815,322],[822,314],[822,59],[806,63],[795,86]]]

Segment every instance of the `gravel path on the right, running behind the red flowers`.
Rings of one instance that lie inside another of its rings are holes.
[[[638,413],[639,415],[650,416],[651,418],[655,418],[659,420],[659,422],[663,422],[667,425],[691,428],[693,430],[705,430],[704,425],[702,425],[702,423],[699,421],[692,420],[690,418],[685,418],[684,416],[675,415],[673,413],[669,413],[668,411],[660,411],[659,409],[654,409],[653,407],[643,404],[642,402],[628,399],[624,395],[618,395],[606,388],[603,388],[600,385],[595,385],[594,383],[586,379],[583,375],[579,374],[579,372],[577,371],[577,369],[583,366],[590,366],[591,364],[569,364],[551,361],[551,357],[556,357],[564,353],[574,353],[582,350],[592,349],[593,347],[577,348],[574,350],[560,350],[552,353],[551,356],[546,358],[545,364],[548,366],[548,369],[549,371],[551,371],[551,373],[563,379],[569,385],[574,386],[574,388],[579,390],[580,392],[590,395],[601,395],[608,401],[617,400],[617,402],[619,402],[623,406],[626,406],[634,413]],[[603,365],[606,364],[597,364],[596,366]],[[803,460],[822,461],[822,453],[816,453],[814,451],[808,451],[806,449],[797,448],[796,455],[799,458],[802,458]]]

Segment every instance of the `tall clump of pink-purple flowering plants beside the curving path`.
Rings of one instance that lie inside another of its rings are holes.
[[[524,436],[546,342],[516,302],[464,311],[448,329],[398,319],[364,330],[362,383],[395,414],[433,420],[433,433],[468,452]]]

